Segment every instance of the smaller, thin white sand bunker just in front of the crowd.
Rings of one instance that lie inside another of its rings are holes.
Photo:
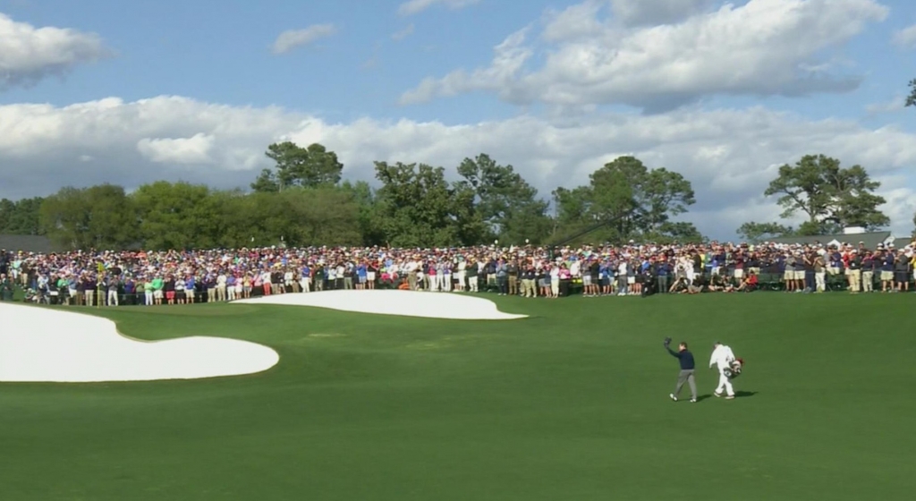
[[[380,315],[401,315],[453,320],[515,320],[526,315],[511,315],[496,309],[496,303],[483,298],[449,292],[411,290],[326,290],[299,294],[279,294],[234,303],[285,304],[331,310],[358,311]]]

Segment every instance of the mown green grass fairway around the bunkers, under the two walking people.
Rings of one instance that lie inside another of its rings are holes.
[[[909,499],[909,295],[498,299],[523,321],[280,306],[93,310],[137,338],[235,337],[266,373],[0,387],[0,499]],[[668,394],[722,339],[736,389]]]

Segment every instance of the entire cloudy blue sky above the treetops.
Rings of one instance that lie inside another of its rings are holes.
[[[911,0],[0,0],[0,197],[247,188],[290,140],[373,184],[376,160],[454,179],[486,153],[549,199],[633,155],[731,239],[824,154],[911,234],[914,56]]]

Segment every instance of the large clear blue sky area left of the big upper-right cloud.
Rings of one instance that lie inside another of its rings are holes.
[[[65,82],[48,80],[0,99],[65,105],[111,95],[132,101],[178,94],[217,103],[277,104],[332,120],[370,115],[463,123],[515,113],[486,97],[471,100],[479,106],[475,112],[464,100],[405,109],[398,96],[430,74],[488,60],[507,29],[524,27],[555,2],[432,6],[416,16],[399,16],[399,4],[7,0],[0,2],[0,12],[36,26],[98,33],[117,57],[75,71]],[[287,54],[270,52],[281,31],[322,23],[333,23],[338,33]],[[410,26],[409,38],[392,39]]]

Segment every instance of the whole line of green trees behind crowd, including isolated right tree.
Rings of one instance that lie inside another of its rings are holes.
[[[45,198],[0,201],[0,233],[45,234],[61,249],[237,248],[267,245],[445,247],[552,245],[570,241],[702,242],[682,214],[695,203],[690,180],[665,168],[620,157],[583,186],[545,199],[511,165],[486,154],[465,158],[455,180],[422,163],[375,162],[377,187],[344,180],[344,165],[320,144],[272,144],[274,166],[249,189],[214,190],[156,181],[134,191],[102,184],[66,187]],[[746,223],[748,240],[821,234],[845,225],[888,223],[883,199],[865,169],[841,169],[808,156],[783,166],[766,195],[783,217],[803,212],[799,228]]]

